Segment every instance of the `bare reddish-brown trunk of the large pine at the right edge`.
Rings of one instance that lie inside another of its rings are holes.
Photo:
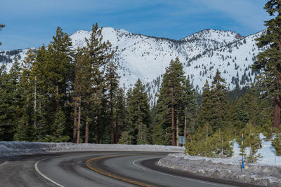
[[[275,78],[275,90],[279,90],[281,78],[279,75]],[[274,101],[274,116],[273,116],[273,126],[278,128],[280,125],[280,95],[275,96]]]

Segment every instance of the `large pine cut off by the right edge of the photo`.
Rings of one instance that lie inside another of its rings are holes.
[[[281,1],[270,0],[264,7],[270,16],[275,16],[271,20],[265,21],[266,33],[262,34],[257,46],[263,48],[269,46],[265,51],[257,55],[257,60],[253,64],[254,70],[262,69],[264,74],[259,76],[258,85],[268,97],[274,97],[273,125],[280,125],[281,106]]]

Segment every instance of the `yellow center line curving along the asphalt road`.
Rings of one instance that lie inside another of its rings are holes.
[[[109,174],[109,173],[103,172],[101,170],[95,169],[95,168],[93,168],[93,167],[91,167],[90,165],[87,164],[88,162],[91,162],[93,160],[100,160],[100,159],[103,159],[103,158],[119,157],[119,156],[129,156],[129,155],[110,155],[110,156],[103,156],[103,157],[98,157],[98,158],[91,158],[89,160],[86,160],[85,164],[86,164],[87,167],[89,167],[90,169],[92,169],[95,172],[98,172],[99,174],[103,174],[105,176],[110,176],[111,178],[118,179],[118,180],[121,180],[121,181],[125,181],[125,182],[128,182],[128,183],[133,183],[133,184],[136,184],[138,186],[150,187],[149,185],[147,185],[145,183],[139,183],[139,182],[136,182],[136,181],[131,181],[129,179],[124,179],[120,176],[116,176],[116,175]]]

